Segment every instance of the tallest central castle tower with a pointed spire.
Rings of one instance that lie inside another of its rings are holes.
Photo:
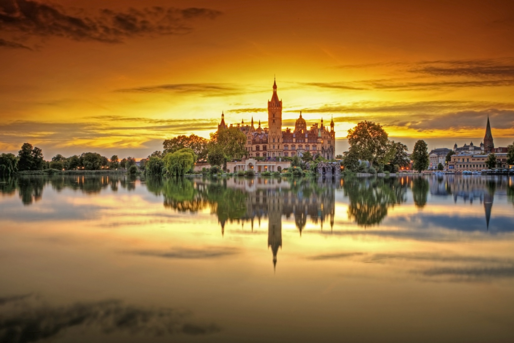
[[[277,95],[277,82],[273,81],[273,95],[268,101],[268,156],[282,156],[282,100]]]

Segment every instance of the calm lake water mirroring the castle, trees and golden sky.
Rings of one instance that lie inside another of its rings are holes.
[[[0,182],[0,342],[514,341],[514,177]]]

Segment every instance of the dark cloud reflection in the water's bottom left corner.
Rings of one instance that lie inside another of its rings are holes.
[[[83,327],[103,334],[129,332],[144,336],[206,335],[221,331],[216,324],[197,323],[189,312],[145,308],[118,300],[75,303],[68,306],[34,306],[20,303],[23,311],[3,310],[0,342],[26,343],[51,339],[67,329]]]

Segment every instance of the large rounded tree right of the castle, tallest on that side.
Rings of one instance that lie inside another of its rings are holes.
[[[390,145],[388,134],[380,124],[371,121],[361,121],[353,129],[348,130],[348,143],[354,149],[359,159],[373,163],[384,164],[389,160]]]

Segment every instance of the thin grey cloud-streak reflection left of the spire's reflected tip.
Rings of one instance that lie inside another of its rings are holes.
[[[206,247],[203,249],[176,248],[170,250],[140,250],[130,251],[128,253],[167,259],[210,259],[232,256],[239,252],[238,249],[231,247]]]

